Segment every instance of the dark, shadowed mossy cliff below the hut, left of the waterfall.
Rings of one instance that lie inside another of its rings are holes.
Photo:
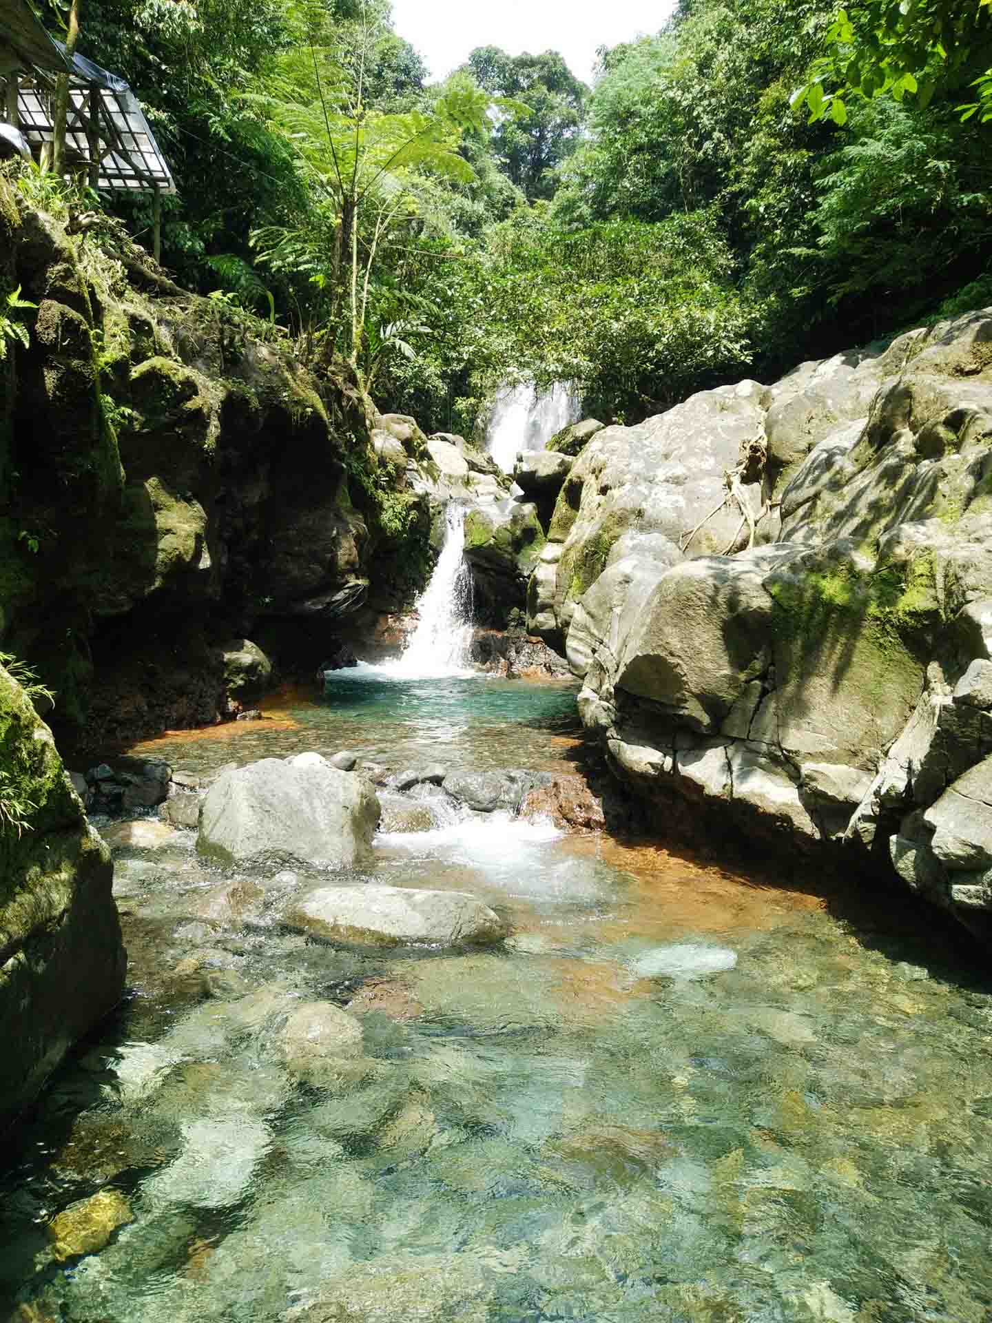
[[[0,177],[0,646],[57,692],[60,738],[209,722],[224,648],[313,664],[429,569],[423,437],[345,369],[172,284],[107,217]],[[403,554],[398,554],[402,546]]]

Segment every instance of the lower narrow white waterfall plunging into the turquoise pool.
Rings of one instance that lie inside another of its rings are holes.
[[[462,552],[466,512],[454,503],[446,512],[444,545],[430,583],[417,602],[418,624],[392,669],[410,677],[464,673],[472,638],[472,572]]]

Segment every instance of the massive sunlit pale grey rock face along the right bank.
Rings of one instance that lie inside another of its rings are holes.
[[[622,779],[682,822],[894,869],[983,938],[989,339],[971,314],[604,429],[529,590]]]

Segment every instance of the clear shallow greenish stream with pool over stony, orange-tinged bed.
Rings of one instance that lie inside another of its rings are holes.
[[[573,706],[369,673],[140,751],[570,770]],[[335,950],[279,925],[303,871],[224,875],[183,832],[118,852],[128,1002],[0,1177],[0,1319],[988,1323],[973,954],[898,893],[425,810],[369,876],[471,889],[505,949]],[[369,1058],[325,1089],[279,1052],[312,999],[361,1017]],[[48,1222],[99,1189],[132,1221],[56,1261]]]

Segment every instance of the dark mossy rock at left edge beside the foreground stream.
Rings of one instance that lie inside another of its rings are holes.
[[[120,999],[107,847],[52,732],[0,667],[0,1130]]]

